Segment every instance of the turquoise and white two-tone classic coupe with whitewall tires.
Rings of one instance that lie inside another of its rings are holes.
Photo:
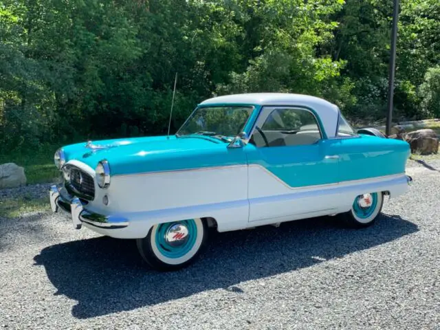
[[[158,270],[192,263],[208,231],[337,215],[375,222],[412,180],[407,142],[355,131],[331,102],[237,94],[197,105],[175,135],[63,146],[52,210],[74,228],[135,239]],[[213,229],[212,229],[213,228]]]

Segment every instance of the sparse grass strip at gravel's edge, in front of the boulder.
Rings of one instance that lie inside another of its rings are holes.
[[[32,199],[30,197],[19,197],[14,199],[3,199],[0,201],[0,217],[14,218],[23,212],[41,212],[50,210],[49,197]]]

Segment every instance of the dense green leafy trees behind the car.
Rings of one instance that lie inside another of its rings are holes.
[[[214,95],[384,118],[392,0],[1,0],[1,148],[172,132]],[[395,115],[440,115],[440,2],[401,0]]]

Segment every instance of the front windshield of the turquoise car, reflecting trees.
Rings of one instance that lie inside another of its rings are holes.
[[[230,141],[243,131],[254,107],[200,107],[177,131],[177,137],[206,135]]]

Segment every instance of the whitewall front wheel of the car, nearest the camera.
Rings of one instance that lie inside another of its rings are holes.
[[[197,258],[208,236],[202,219],[153,225],[144,239],[137,239],[140,255],[156,270],[179,270]]]

